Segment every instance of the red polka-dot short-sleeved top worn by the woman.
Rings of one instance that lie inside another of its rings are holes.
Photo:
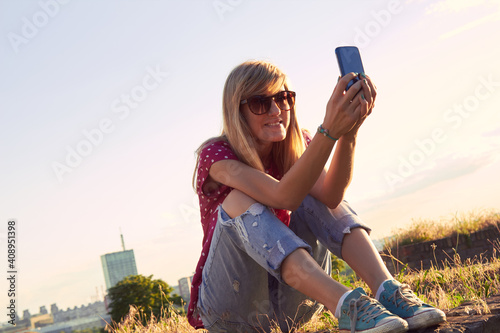
[[[304,139],[306,145],[311,142],[311,137],[308,132],[303,131]],[[200,260],[198,265],[196,265],[196,271],[193,276],[193,282],[191,284],[191,300],[189,302],[187,317],[189,323],[195,328],[203,328],[203,322],[199,315],[194,315],[194,309],[196,309],[198,303],[198,293],[199,287],[201,285],[203,266],[207,260],[208,251],[210,250],[210,244],[212,243],[212,236],[214,234],[215,225],[217,223],[217,207],[219,207],[224,199],[226,199],[232,188],[221,184],[219,187],[214,189],[205,189],[205,181],[208,178],[209,170],[212,164],[221,160],[239,160],[236,154],[231,149],[231,146],[226,141],[215,140],[209,142],[200,152],[200,158],[198,162],[198,169],[196,174],[196,192],[198,193],[198,198],[200,201],[200,215],[201,215],[201,226],[203,228],[203,248],[201,250]],[[271,167],[266,170],[266,173],[272,177],[280,180],[283,175],[278,174],[276,168]],[[208,191],[208,192],[207,192]],[[285,225],[290,223],[290,211],[285,209],[274,209],[271,211],[279,218]]]

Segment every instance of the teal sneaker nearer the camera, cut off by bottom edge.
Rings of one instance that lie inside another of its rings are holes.
[[[340,308],[339,332],[400,333],[407,330],[406,321],[366,296],[363,288],[354,289]]]

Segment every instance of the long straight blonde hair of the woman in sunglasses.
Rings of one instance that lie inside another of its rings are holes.
[[[216,138],[205,141],[197,150],[201,150],[209,142],[214,140],[225,140],[230,145],[240,161],[264,171],[264,165],[255,149],[255,138],[250,127],[240,112],[242,100],[255,95],[274,95],[282,88],[288,90],[290,83],[286,75],[273,64],[266,61],[247,61],[233,69],[224,85],[222,99],[223,127],[222,133]],[[302,132],[297,122],[295,106],[290,111],[290,125],[288,126],[286,138],[280,142],[274,142],[271,158],[280,174],[285,174],[305,150]],[[193,177],[195,186],[196,169]]]

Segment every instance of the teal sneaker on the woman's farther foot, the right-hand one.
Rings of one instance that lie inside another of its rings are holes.
[[[396,280],[384,282],[380,303],[408,322],[410,330],[434,326],[446,321],[443,311],[422,302],[407,284]]]

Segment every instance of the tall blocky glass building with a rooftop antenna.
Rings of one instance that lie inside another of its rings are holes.
[[[123,251],[104,254],[101,256],[102,270],[106,289],[115,286],[123,278],[129,275],[137,275],[134,250],[125,250],[125,243],[122,239]]]

